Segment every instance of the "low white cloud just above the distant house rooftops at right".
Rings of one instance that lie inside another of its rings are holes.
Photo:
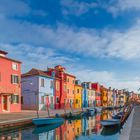
[[[117,78],[117,74],[109,71],[96,71],[91,69],[78,69],[73,71],[78,79],[87,82],[99,82],[106,87],[116,89],[128,89],[129,91],[137,92],[140,87],[139,78],[127,77],[127,79]],[[129,79],[128,79],[129,78]]]

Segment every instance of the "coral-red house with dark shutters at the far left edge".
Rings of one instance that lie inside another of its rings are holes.
[[[21,62],[0,50],[0,113],[21,111]]]

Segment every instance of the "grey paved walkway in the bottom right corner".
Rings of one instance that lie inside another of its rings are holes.
[[[135,107],[129,140],[140,140],[140,106]]]

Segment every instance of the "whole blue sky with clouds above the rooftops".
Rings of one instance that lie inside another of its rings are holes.
[[[140,87],[140,1],[0,0],[0,49],[22,71],[61,64],[82,81]]]

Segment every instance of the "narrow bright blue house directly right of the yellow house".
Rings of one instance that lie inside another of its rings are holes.
[[[86,82],[82,83],[83,93],[82,93],[82,107],[88,107],[88,86]]]

